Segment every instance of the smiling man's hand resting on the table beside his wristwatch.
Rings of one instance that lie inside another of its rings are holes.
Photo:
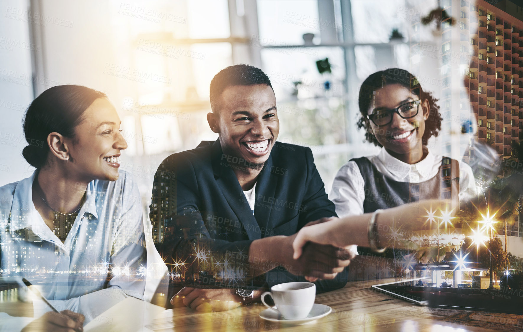
[[[184,287],[170,299],[170,304],[183,303],[200,312],[226,311],[243,304],[235,289]]]

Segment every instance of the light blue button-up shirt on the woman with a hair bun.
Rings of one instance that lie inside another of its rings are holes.
[[[131,176],[120,171],[117,181],[90,182],[64,243],[32,203],[35,176],[0,187],[0,286],[14,280],[22,287],[26,278],[59,311],[83,314],[85,324],[128,296],[143,299],[145,234]],[[35,318],[51,311],[33,304]],[[0,326],[12,328],[3,318]]]

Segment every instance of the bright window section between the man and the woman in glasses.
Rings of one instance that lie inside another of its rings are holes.
[[[359,85],[382,68],[410,67],[403,36],[413,13],[403,0],[321,6],[316,0],[257,0],[257,8],[261,65],[279,103],[279,140],[311,147],[329,190],[339,167],[378,149],[362,144],[356,126]],[[321,73],[319,61],[328,61],[331,71]]]

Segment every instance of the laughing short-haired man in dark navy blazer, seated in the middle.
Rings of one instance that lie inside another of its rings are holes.
[[[154,177],[153,238],[166,262],[185,271],[184,280],[175,279],[194,282],[171,303],[228,310],[259,300],[274,284],[304,281],[301,275],[318,292],[345,286],[350,257],[338,248],[309,243],[292,258],[295,233],[336,212],[311,149],[276,141],[267,75],[227,67],[212,79],[210,101],[207,120],[219,138],[167,157]]]

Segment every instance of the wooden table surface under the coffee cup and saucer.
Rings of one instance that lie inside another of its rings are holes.
[[[300,326],[265,321],[263,304],[226,312],[199,313],[187,307],[166,310],[148,328],[160,331],[523,331],[523,315],[418,306],[373,291],[371,284],[349,282],[343,289],[316,295],[332,307],[326,317]]]

